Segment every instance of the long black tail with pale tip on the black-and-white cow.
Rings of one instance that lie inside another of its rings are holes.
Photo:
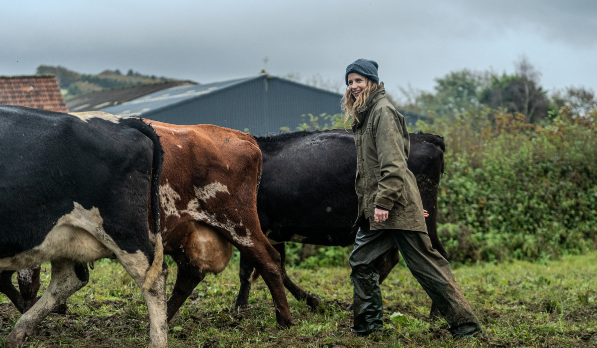
[[[159,136],[151,125],[143,122],[143,119],[127,119],[128,125],[140,131],[148,137],[153,143],[152,175],[151,175],[151,193],[150,205],[151,216],[153,219],[153,233],[155,233],[155,254],[153,263],[149,266],[145,275],[143,291],[149,290],[155,283],[158,276],[162,273],[162,263],[164,263],[164,245],[162,245],[162,235],[159,227],[159,180],[162,177],[162,162],[164,161],[164,150],[159,142]]]

